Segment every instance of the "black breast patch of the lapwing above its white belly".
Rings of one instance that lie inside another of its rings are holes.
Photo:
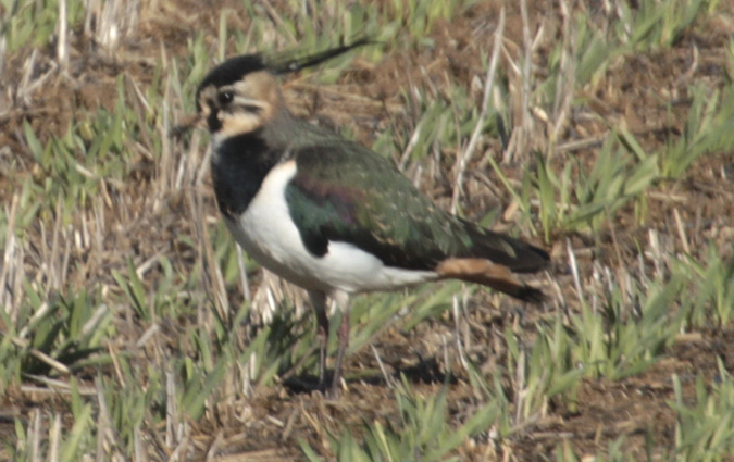
[[[225,139],[212,157],[216,204],[226,217],[239,216],[260,190],[279,155],[257,134]]]

